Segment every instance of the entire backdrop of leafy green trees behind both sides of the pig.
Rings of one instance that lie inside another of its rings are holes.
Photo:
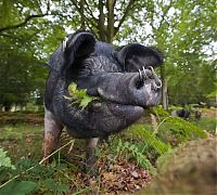
[[[41,64],[76,29],[116,46],[137,41],[159,48],[166,56],[165,108],[208,101],[216,82],[215,15],[214,0],[1,0],[0,106],[42,104]]]

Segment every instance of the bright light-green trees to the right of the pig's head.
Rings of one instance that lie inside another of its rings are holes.
[[[140,25],[135,27],[132,35],[140,31],[139,40],[157,46],[166,56],[165,66],[161,67],[164,108],[168,106],[167,96],[173,104],[206,101],[207,90],[199,82],[202,77],[207,78],[214,89],[216,80],[212,47],[216,46],[214,2],[146,1],[141,15],[143,18],[140,18]],[[145,29],[151,32],[143,34]],[[209,52],[204,52],[205,48]]]

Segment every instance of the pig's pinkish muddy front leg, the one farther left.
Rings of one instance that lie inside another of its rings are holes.
[[[49,158],[46,159],[59,144],[63,125],[56,121],[51,112],[46,109],[44,114],[44,139],[43,139],[43,159],[44,164],[49,162]]]

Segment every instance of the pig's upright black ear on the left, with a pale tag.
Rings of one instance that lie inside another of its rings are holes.
[[[69,35],[52,54],[48,65],[65,76],[77,60],[85,58],[94,51],[95,38],[91,32],[77,31]]]

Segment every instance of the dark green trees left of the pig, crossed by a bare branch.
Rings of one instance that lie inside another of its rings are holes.
[[[55,26],[47,18],[49,3],[38,1],[1,1],[0,6],[0,107],[24,106],[31,99],[42,104],[47,27]],[[59,27],[60,28],[60,27]],[[56,30],[56,29],[55,29]],[[56,36],[58,37],[58,36]],[[52,43],[56,43],[53,39]],[[47,44],[49,46],[49,44]]]

